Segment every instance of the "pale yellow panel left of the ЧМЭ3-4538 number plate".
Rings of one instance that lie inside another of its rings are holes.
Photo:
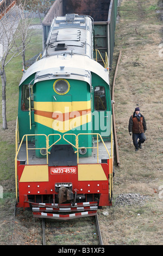
[[[48,166],[25,166],[20,182],[49,181]]]

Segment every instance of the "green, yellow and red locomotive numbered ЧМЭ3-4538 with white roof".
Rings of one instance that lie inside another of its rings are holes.
[[[112,204],[109,69],[95,52],[90,16],[55,17],[42,56],[23,71],[16,201],[34,217],[70,220]]]

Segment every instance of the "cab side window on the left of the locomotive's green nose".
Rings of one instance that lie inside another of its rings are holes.
[[[30,105],[33,108],[33,87],[30,87]],[[22,111],[29,111],[29,87],[28,85],[22,86],[22,100],[21,100]]]

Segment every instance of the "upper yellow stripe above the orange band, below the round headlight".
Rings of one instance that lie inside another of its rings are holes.
[[[59,111],[59,113],[67,113],[71,111],[81,111],[91,108],[91,101],[72,101],[72,102],[36,102],[34,101],[34,109],[40,111]],[[71,110],[72,109],[72,110]]]

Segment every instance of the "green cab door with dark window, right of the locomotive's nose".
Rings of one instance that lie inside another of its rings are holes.
[[[93,84],[93,133],[99,133],[103,138],[109,138],[110,115],[105,86],[102,86],[102,84]]]

